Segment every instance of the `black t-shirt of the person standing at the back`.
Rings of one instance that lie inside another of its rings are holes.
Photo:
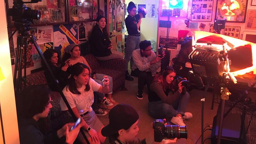
[[[140,32],[138,32],[137,30],[137,23],[139,22],[139,19],[140,19],[139,14],[136,14],[134,17],[128,15],[127,18],[125,18],[125,26],[129,35],[140,34]],[[140,27],[139,27],[139,31],[140,31]]]

